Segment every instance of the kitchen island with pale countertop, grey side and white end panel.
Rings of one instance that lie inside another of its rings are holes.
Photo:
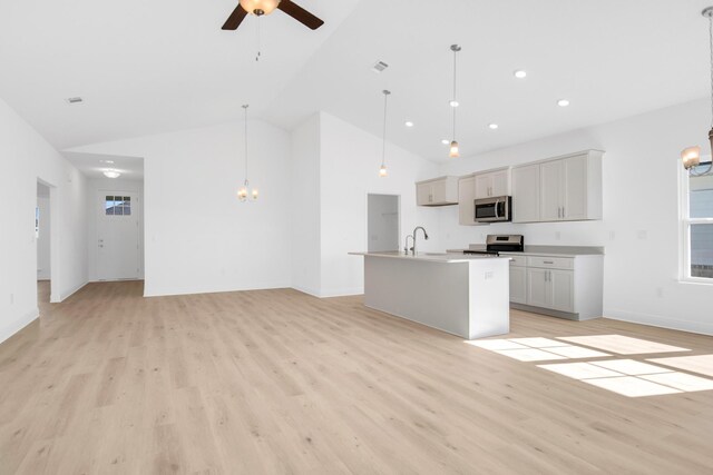
[[[467,339],[507,334],[509,258],[462,254],[364,256],[364,305]]]

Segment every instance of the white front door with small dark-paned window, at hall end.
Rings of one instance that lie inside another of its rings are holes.
[[[100,191],[97,219],[97,277],[99,280],[139,278],[137,195]]]

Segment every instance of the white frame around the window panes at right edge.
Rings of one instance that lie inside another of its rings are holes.
[[[713,157],[701,157],[700,165],[707,165]],[[711,218],[691,218],[691,189],[690,189],[688,170],[683,168],[683,162],[678,160],[678,190],[681,192],[678,222],[680,222],[680,240],[681,246],[678,263],[681,268],[678,271],[678,280],[682,283],[702,284],[713,286],[713,278],[711,277],[694,277],[691,275],[691,226],[692,225],[713,225],[713,217]]]

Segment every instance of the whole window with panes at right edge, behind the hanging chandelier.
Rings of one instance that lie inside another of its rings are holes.
[[[693,169],[694,174],[707,170],[709,164],[699,165]],[[713,174],[683,174],[682,276],[684,279],[713,283]]]

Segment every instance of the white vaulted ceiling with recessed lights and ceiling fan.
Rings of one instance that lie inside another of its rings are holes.
[[[0,6],[0,97],[59,149],[253,117],[291,129],[325,110],[445,159],[460,43],[463,156],[706,96],[713,0],[299,0],[221,30],[235,0],[23,0]],[[383,60],[381,75],[370,68]],[[512,78],[515,69],[528,78]],[[86,103],[64,99],[81,96]],[[556,101],[567,98],[568,108]],[[407,129],[404,120],[416,127]],[[497,122],[498,130],[487,125]],[[702,125],[703,133],[707,125]]]

